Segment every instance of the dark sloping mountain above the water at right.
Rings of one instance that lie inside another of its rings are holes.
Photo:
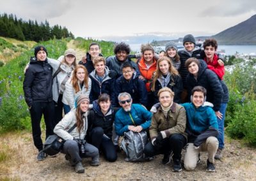
[[[230,27],[212,38],[220,45],[256,45],[256,15]]]

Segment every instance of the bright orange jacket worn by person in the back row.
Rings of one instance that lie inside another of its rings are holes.
[[[151,91],[150,90],[150,80],[152,78],[154,71],[156,71],[156,60],[154,59],[151,66],[149,68],[147,68],[144,58],[141,57],[140,61],[138,62],[138,67],[139,67],[141,75],[147,80],[146,88],[147,88],[147,91],[150,92]]]

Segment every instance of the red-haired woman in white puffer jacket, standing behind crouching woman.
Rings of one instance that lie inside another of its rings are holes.
[[[92,80],[88,76],[88,72],[83,65],[77,65],[72,76],[65,84],[63,92],[63,108],[65,114],[75,107],[75,100],[80,95],[90,95],[92,88]]]

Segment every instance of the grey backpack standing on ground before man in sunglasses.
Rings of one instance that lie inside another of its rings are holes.
[[[120,146],[126,154],[125,161],[150,161],[152,157],[146,157],[143,152],[147,142],[148,136],[146,131],[141,131],[140,133],[133,131],[125,132]]]

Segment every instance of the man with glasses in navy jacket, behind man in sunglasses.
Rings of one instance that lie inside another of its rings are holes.
[[[143,80],[132,68],[130,62],[125,62],[122,65],[123,75],[116,79],[115,82],[115,96],[112,99],[114,107],[119,106],[118,95],[121,92],[128,92],[131,95],[133,103],[138,103],[147,106],[147,89]]]

